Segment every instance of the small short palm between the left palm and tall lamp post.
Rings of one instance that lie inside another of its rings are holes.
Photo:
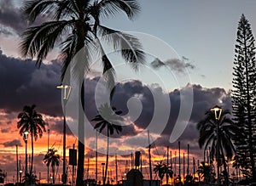
[[[60,155],[56,155],[57,152],[56,149],[52,148],[49,149],[47,154],[44,155],[44,163],[46,163],[46,166],[51,166],[52,171],[52,182],[55,183],[55,166],[60,166]]]

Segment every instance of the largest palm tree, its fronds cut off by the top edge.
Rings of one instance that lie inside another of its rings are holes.
[[[35,0],[26,1],[22,13],[26,20],[33,23],[40,15],[48,21],[41,25],[31,26],[22,34],[20,51],[25,57],[36,58],[38,67],[49,52],[59,46],[63,61],[61,82],[74,56],[82,50],[84,58],[76,64],[73,73],[84,77],[84,71],[89,70],[90,59],[101,55],[103,74],[109,83],[114,82],[113,65],[105,54],[98,37],[113,45],[122,54],[132,68],[137,69],[143,63],[142,46],[136,37],[116,31],[102,25],[102,20],[109,15],[125,13],[132,20],[140,12],[137,0]],[[62,42],[60,42],[62,41]],[[63,84],[63,82],[62,82]],[[81,92],[79,98],[84,104],[84,83],[79,82]],[[84,109],[84,105],[83,105]],[[79,166],[77,169],[77,185],[83,184],[84,176],[84,112],[79,112]]]

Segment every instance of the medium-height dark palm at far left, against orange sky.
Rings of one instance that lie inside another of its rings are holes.
[[[20,120],[17,123],[17,128],[20,129],[20,136],[22,136],[24,132],[29,132],[31,136],[32,157],[29,175],[32,175],[34,139],[37,141],[38,137],[41,138],[43,136],[46,125],[43,116],[38,114],[35,108],[35,104],[32,104],[32,106],[24,106],[23,111],[18,115],[18,119]]]

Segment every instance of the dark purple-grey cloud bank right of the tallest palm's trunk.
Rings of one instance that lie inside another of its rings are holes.
[[[96,116],[96,105],[94,103],[94,90],[96,87],[96,83],[98,78],[94,78],[88,81],[86,85],[88,86],[86,93],[86,101],[85,103],[85,114],[88,118],[93,118]],[[150,86],[149,86],[150,87]],[[182,148],[186,149],[187,144],[190,144],[190,149],[193,150],[193,153],[201,152],[198,146],[198,131],[196,129],[196,123],[200,121],[207,110],[212,108],[216,104],[220,104],[224,109],[231,110],[231,99],[230,92],[226,92],[224,88],[212,87],[206,88],[201,87],[201,85],[191,85],[188,84],[186,87],[182,89],[175,89],[168,93],[168,97],[171,101],[171,111],[169,120],[166,123],[166,127],[161,134],[160,138],[157,138],[155,141],[155,145],[158,147],[166,147],[170,146],[171,148],[176,148],[177,143],[170,144],[169,138],[172,133],[172,129],[174,125],[179,125],[177,123],[177,116],[180,112],[180,104],[181,104],[181,91],[183,91],[183,96],[187,96],[187,88],[193,89],[193,110],[190,115],[189,121],[183,121],[187,124],[182,136],[178,138],[178,140],[182,141]],[[161,92],[160,87],[154,87],[155,89],[159,89],[159,92],[164,95],[165,93]],[[151,93],[152,89],[149,89],[148,86],[143,85],[142,82],[139,81],[131,81],[125,83],[119,83],[115,87],[115,93],[113,95],[112,104],[117,110],[122,110],[123,114],[126,115],[129,113],[127,103],[131,98],[140,99],[143,110],[137,120],[134,122],[135,126],[128,125],[123,127],[123,131],[117,135],[114,134],[113,138],[125,138],[125,144],[138,144],[137,140],[143,141],[145,138],[141,139],[130,139],[139,133],[138,129],[145,129],[148,127],[148,124],[152,120],[152,116],[154,116],[154,98]],[[138,96],[139,95],[139,96]],[[156,123],[156,127],[163,123]],[[92,123],[91,125],[95,125]],[[104,132],[103,132],[104,133]],[[154,131],[152,132],[154,134]],[[105,133],[106,134],[106,133]],[[146,137],[147,138],[147,137]],[[146,139],[147,141],[147,139]],[[141,143],[141,142],[139,142]],[[142,144],[143,147],[148,146],[147,144]]]

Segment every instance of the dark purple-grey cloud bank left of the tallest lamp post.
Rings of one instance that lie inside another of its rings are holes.
[[[37,110],[51,116],[61,115],[61,65],[41,65],[27,59],[15,59],[0,54],[0,109],[21,111],[24,105],[37,105]]]

